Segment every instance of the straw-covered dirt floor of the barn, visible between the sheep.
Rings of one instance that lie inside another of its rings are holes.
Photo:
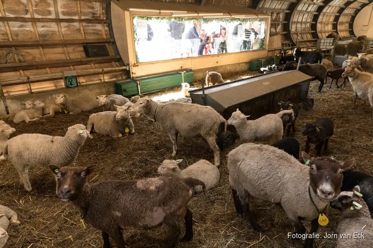
[[[241,74],[224,78],[234,80],[247,76]],[[252,75],[252,74],[251,74]],[[341,83],[341,82],[340,82]],[[325,85],[322,93],[316,93],[319,83],[311,83],[309,96],[315,100],[312,112],[300,110],[294,136],[304,150],[305,137],[301,131],[304,124],[315,121],[318,117],[329,116],[334,120],[335,131],[330,138],[329,150],[326,155],[334,156],[338,160],[356,158],[354,169],[373,174],[373,128],[370,107],[363,108],[359,101],[353,107],[352,87],[332,89]],[[170,89],[166,93],[180,90]],[[163,93],[165,93],[163,92]],[[153,96],[160,96],[155,93]],[[177,95],[177,94],[176,94]],[[190,102],[189,99],[181,99]],[[46,117],[38,122],[29,124],[13,124],[21,133],[43,133],[50,135],[64,135],[67,128],[73,124],[86,124],[90,113],[80,115],[58,115]],[[94,182],[120,179],[132,180],[145,177],[156,177],[157,168],[164,159],[170,159],[172,143],[168,135],[159,125],[143,117],[134,119],[134,135],[126,138],[110,138],[94,135],[82,147],[76,165],[95,165],[96,172],[89,180]],[[240,144],[237,140],[235,147]],[[193,211],[194,238],[189,243],[179,243],[179,248],[300,248],[301,241],[292,241],[287,233],[293,228],[281,207],[277,204],[252,199],[251,209],[264,232],[258,233],[250,228],[249,223],[237,215],[228,184],[228,171],[225,155],[234,147],[225,150],[221,155],[221,179],[219,186],[203,194],[194,196],[189,202]],[[312,146],[313,148],[313,146]],[[311,150],[313,152],[313,150]],[[178,159],[183,159],[181,167],[207,159],[213,162],[213,153],[209,152],[207,142],[201,138],[179,139]],[[63,203],[55,193],[55,181],[51,172],[46,168],[30,170],[31,192],[24,190],[19,184],[18,174],[9,163],[0,163],[0,204],[11,207],[18,213],[21,221],[19,226],[10,226],[9,240],[6,248],[86,248],[102,247],[99,231],[87,226],[83,228],[80,214],[72,203]],[[296,204],[296,202],[294,202]],[[332,234],[338,223],[338,211],[328,208],[329,225],[321,227],[319,233]],[[184,232],[184,221],[182,222]],[[309,225],[307,224],[307,230]],[[123,232],[130,248],[161,248],[166,238],[165,228],[151,231]],[[335,239],[319,239],[314,247],[334,248]],[[115,247],[115,246],[113,246]]]

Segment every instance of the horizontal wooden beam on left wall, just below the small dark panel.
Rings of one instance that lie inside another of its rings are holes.
[[[45,68],[65,67],[71,65],[82,65],[91,63],[110,63],[120,61],[120,56],[107,56],[96,58],[80,58],[72,60],[55,60],[55,61],[36,61],[23,63],[5,63],[0,64],[0,72],[10,72],[17,70],[37,70]]]

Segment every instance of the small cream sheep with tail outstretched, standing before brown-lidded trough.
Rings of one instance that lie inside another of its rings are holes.
[[[281,117],[284,114],[292,114],[292,110],[284,110],[278,114],[269,114],[261,118],[248,121],[239,109],[232,113],[227,121],[228,125],[233,125],[240,138],[245,142],[267,141],[272,144],[282,138],[283,126]]]

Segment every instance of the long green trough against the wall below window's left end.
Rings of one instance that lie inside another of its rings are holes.
[[[183,79],[184,78],[184,79]],[[117,81],[116,94],[130,97],[180,86],[183,82],[192,83],[194,74],[191,70],[179,71],[162,75],[134,78],[132,80]]]

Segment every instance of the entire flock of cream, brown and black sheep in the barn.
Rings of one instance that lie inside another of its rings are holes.
[[[308,73],[309,70],[317,71],[322,88],[328,71],[319,68],[325,67],[322,63],[309,62],[322,62],[322,57],[320,59],[318,54],[312,54],[314,52],[299,52],[294,51],[295,58],[301,57],[304,63],[299,70],[304,68]],[[360,54],[356,63],[370,57],[364,56]],[[350,60],[351,63],[353,61]],[[284,70],[290,67],[291,62],[287,62]],[[349,78],[355,101],[359,97],[370,101],[373,107],[373,74],[360,69],[349,64],[340,76]],[[206,86],[222,82],[221,74],[207,71]],[[186,96],[187,86],[184,84],[182,89]],[[125,247],[121,230],[149,229],[161,224],[168,226],[167,247],[172,248],[180,236],[181,219],[185,220],[186,225],[183,241],[190,241],[193,238],[193,220],[187,204],[193,193],[205,192],[219,184],[218,141],[226,132],[227,125],[233,125],[244,142],[227,155],[234,205],[237,213],[243,215],[253,229],[258,232],[262,230],[250,211],[250,196],[280,203],[295,228],[294,239],[306,233],[302,222],[311,222],[310,234],[316,233],[319,225],[327,224],[325,211],[330,205],[341,210],[344,217],[337,229],[339,234],[353,235],[359,232],[367,237],[364,240],[339,238],[338,248],[356,247],[357,244],[360,247],[373,247],[373,220],[370,214],[373,210],[372,176],[348,171],[355,164],[354,159],[342,162],[333,157],[321,157],[322,147],[324,151],[327,150],[329,138],[334,132],[333,121],[328,117],[305,124],[302,134],[307,136],[307,140],[305,151],[301,153],[304,164],[299,162],[299,142],[292,137],[283,138],[286,126],[287,136],[291,127],[295,132],[299,112],[294,103],[280,101],[279,113],[257,120],[247,120],[249,116],[237,109],[228,121],[209,106],[179,102],[161,104],[138,96],[130,100],[120,95],[74,99],[66,94],[58,94],[47,103],[36,101],[24,104],[25,110],[14,115],[15,123],[37,121],[43,115],[54,115],[56,112],[77,114],[96,107],[102,108],[102,112],[89,117],[87,125],[70,126],[63,137],[27,133],[9,139],[15,129],[1,122],[0,161],[7,160],[14,166],[27,191],[32,190],[28,169],[49,167],[56,179],[59,199],[72,201],[81,213],[81,219],[102,232],[104,248],[110,247],[109,237],[119,248]],[[75,167],[75,160],[86,139],[93,132],[112,137],[133,134],[131,118],[141,115],[158,123],[167,132],[173,144],[172,157],[178,153],[179,134],[184,137],[202,136],[214,153],[214,164],[199,160],[181,170],[181,160],[165,160],[158,168],[162,176],[157,178],[88,183],[87,177],[94,167]],[[255,142],[266,142],[268,145]],[[316,157],[307,154],[310,143],[315,144]],[[336,197],[340,190],[342,192]],[[0,248],[8,239],[6,230],[9,224],[20,224],[17,214],[0,206]],[[311,248],[313,237],[306,238],[304,247]]]

